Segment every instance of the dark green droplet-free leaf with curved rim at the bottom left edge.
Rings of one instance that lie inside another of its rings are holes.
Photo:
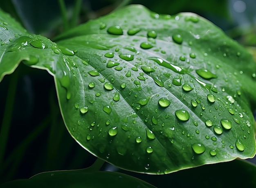
[[[83,170],[74,171],[53,171],[40,173],[30,179],[18,179],[2,184],[3,188],[155,188],[145,181],[135,177],[117,173],[117,172],[83,172]]]

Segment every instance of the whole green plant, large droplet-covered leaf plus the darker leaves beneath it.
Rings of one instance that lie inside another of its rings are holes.
[[[234,160],[255,155],[255,62],[209,21],[192,13],[159,15],[130,5],[65,31],[54,42],[28,33],[2,11],[0,26],[1,80],[21,61],[47,70],[67,130],[99,159],[128,171],[171,173],[134,175],[162,182],[156,186],[184,177],[188,184],[210,186],[213,177],[206,172],[220,168],[225,178],[215,186],[230,186],[234,166],[247,171],[238,176],[251,177],[247,183],[255,185],[255,166]],[[7,122],[4,116],[1,151]],[[3,157],[2,152],[1,166]],[[3,185],[153,187],[125,174],[99,171],[101,160],[83,170]],[[244,182],[233,182],[238,184]]]

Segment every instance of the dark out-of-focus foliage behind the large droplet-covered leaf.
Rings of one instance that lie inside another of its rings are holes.
[[[1,0],[27,31],[52,39],[65,30],[61,0]],[[106,15],[126,4],[143,4],[159,14],[193,12],[225,31],[255,55],[255,0],[65,0],[69,28]],[[74,10],[79,9],[76,17]],[[85,151],[67,132],[61,118],[54,81],[43,70],[20,65],[0,83],[0,123],[9,123],[0,183],[29,178],[43,171],[86,168],[96,157]],[[14,94],[13,94],[14,93]],[[11,95],[13,94],[13,95]],[[13,105],[11,105],[13,103]],[[2,143],[1,143],[2,144]],[[104,169],[115,169],[105,165]]]

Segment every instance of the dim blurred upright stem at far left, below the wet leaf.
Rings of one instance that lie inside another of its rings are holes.
[[[9,81],[9,87],[7,90],[6,103],[4,107],[4,115],[2,120],[2,126],[0,130],[0,174],[2,174],[2,166],[4,160],[4,153],[6,149],[7,140],[9,137],[9,131],[11,127],[11,118],[13,113],[13,105],[16,94],[16,87],[18,83],[19,69],[11,75]]]

